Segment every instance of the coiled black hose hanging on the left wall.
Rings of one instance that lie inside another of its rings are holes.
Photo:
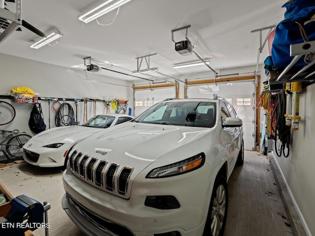
[[[67,114],[65,108],[67,109]],[[69,103],[62,103],[60,107],[58,108],[55,116],[55,124],[57,127],[60,126],[70,126],[75,124],[75,118],[74,118],[74,112],[73,108]]]

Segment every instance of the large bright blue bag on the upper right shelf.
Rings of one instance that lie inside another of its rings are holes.
[[[290,44],[315,40],[315,21],[310,21],[315,15],[315,6],[306,7],[293,18],[286,19],[277,25],[275,38],[272,43],[271,56],[276,68],[287,66],[293,57],[290,57]],[[308,22],[304,25],[305,22]],[[295,63],[295,66],[305,65],[304,57]]]

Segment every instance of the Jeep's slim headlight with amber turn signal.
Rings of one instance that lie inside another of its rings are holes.
[[[153,169],[146,178],[164,178],[185,174],[202,167],[204,163],[205,154],[202,152],[183,161]]]

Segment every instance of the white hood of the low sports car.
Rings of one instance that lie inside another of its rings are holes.
[[[72,144],[102,130],[103,129],[100,128],[91,128],[79,125],[63,126],[48,129],[37,134],[32,139],[43,143],[43,145],[54,143]]]

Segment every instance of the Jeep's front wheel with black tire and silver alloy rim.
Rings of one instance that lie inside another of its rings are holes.
[[[226,179],[217,177],[208,211],[203,236],[223,236],[228,205],[228,192]]]

